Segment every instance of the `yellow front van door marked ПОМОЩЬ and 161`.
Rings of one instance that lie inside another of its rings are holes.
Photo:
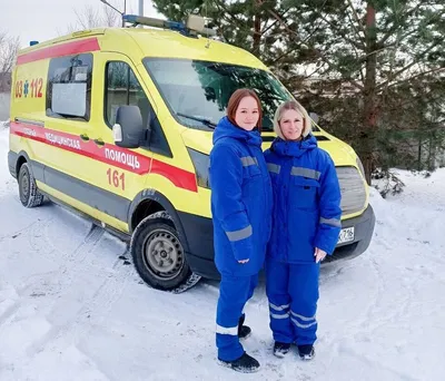
[[[97,145],[93,155],[98,157],[93,166],[95,186],[102,194],[101,221],[128,232],[128,211],[132,199],[144,189],[152,154],[145,147],[127,149],[116,146],[112,126],[119,106],[139,106],[146,126],[156,116],[156,108],[138,70],[127,56],[98,52],[95,58],[95,69],[100,74],[95,77],[93,86],[103,95],[97,105],[95,131],[90,136]]]

